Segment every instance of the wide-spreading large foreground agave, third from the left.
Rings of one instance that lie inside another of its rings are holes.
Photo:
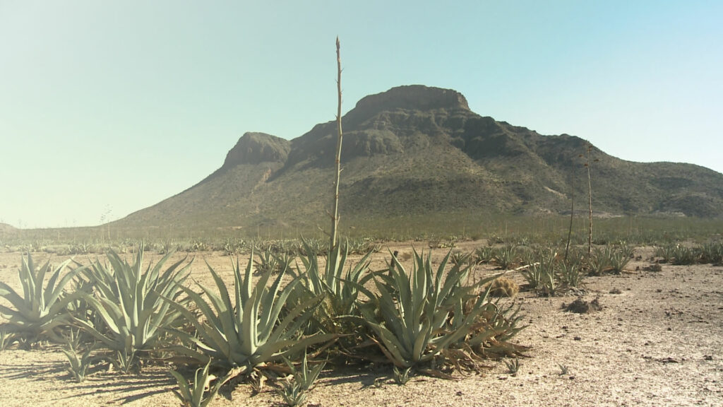
[[[321,297],[308,298],[296,304],[286,315],[280,316],[289,295],[299,283],[299,278],[294,278],[282,290],[281,281],[286,270],[281,270],[270,286],[267,286],[267,283],[271,272],[267,271],[253,285],[253,251],[243,275],[236,259],[233,303],[226,283],[213,268],[208,266],[208,269],[218,294],[199,285],[202,294],[205,294],[210,302],[205,301],[202,294],[183,288],[200,309],[203,322],[183,304],[170,299],[167,301],[184,314],[197,330],[196,335],[177,332],[181,339],[192,344],[193,348],[179,348],[178,351],[185,356],[199,361],[208,361],[208,358],[211,358],[222,366],[239,368],[241,374],[255,366],[291,356],[309,345],[326,342],[335,337],[322,333],[304,337],[299,333],[315,307],[322,301]]]

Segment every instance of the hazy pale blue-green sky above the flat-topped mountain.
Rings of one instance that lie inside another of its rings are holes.
[[[445,4],[442,4],[445,3]],[[448,3],[448,4],[447,4]],[[0,0],[0,222],[97,225],[397,85],[723,172],[723,1]]]

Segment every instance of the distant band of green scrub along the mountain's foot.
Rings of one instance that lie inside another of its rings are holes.
[[[341,238],[383,241],[456,241],[456,240],[527,240],[539,243],[562,242],[567,239],[569,216],[546,217],[483,215],[473,213],[438,214],[437,216],[400,216],[392,219],[357,221],[344,217]],[[586,214],[573,219],[573,244],[585,244]],[[349,227],[349,225],[357,225]],[[53,251],[56,253],[87,253],[100,248],[131,246],[144,240],[147,247],[173,248],[181,251],[223,251],[238,241],[300,241],[327,239],[319,227],[291,228],[284,225],[259,225],[253,230],[233,227],[206,230],[199,227],[168,226],[147,229],[111,227],[79,227],[65,229],[14,230],[0,232],[0,250]],[[699,243],[723,233],[723,219],[688,217],[611,217],[596,219],[593,243],[625,241],[636,245],[676,243],[686,240]]]

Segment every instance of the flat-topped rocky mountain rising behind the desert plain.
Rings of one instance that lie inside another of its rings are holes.
[[[340,211],[355,222],[460,211],[569,213],[573,190],[576,201],[586,201],[586,140],[482,117],[457,91],[392,88],[362,98],[342,122]],[[328,222],[335,143],[336,122],[294,140],[246,133],[213,174],[118,223]],[[589,148],[596,212],[723,216],[722,174],[693,164],[624,161]]]

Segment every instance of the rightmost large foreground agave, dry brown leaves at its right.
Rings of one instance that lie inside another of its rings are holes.
[[[442,280],[449,259],[447,253],[434,272],[431,257],[425,259],[414,251],[414,268],[408,274],[393,256],[388,278],[375,278],[379,294],[364,290],[378,307],[361,307],[364,319],[375,332],[375,342],[398,368],[432,361],[450,345],[463,340],[484,310],[486,295],[480,295],[467,312],[463,305],[474,298],[477,286],[494,277],[463,285],[470,269],[468,264],[453,267]]]

